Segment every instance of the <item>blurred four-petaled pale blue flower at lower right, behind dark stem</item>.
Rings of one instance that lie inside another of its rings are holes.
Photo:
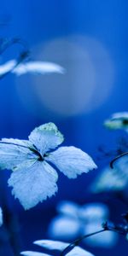
[[[108,219],[108,207],[102,203],[79,206],[70,201],[62,201],[57,210],[60,215],[49,224],[49,236],[65,241],[101,230],[102,224]],[[117,237],[111,231],[104,231],[83,241],[95,247],[113,247]]]

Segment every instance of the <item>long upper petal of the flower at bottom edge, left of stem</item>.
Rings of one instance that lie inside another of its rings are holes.
[[[63,251],[69,243],[64,241],[53,241],[53,240],[38,240],[34,241],[34,244],[37,244],[40,247],[44,247],[45,249],[49,250],[58,250]]]

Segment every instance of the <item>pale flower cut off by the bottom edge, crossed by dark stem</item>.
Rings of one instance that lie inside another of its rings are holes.
[[[34,241],[34,244],[44,247],[45,249],[48,250],[57,250],[57,251],[63,251],[67,246],[69,246],[69,243],[63,242],[63,241],[52,241],[52,240],[39,240],[39,241]],[[51,254],[46,254],[46,253],[38,253],[38,252],[22,252],[20,253],[21,255],[24,256],[52,256]],[[89,253],[82,249],[81,247],[74,247],[72,251],[69,253],[66,253],[65,255],[67,256],[94,256],[94,254]]]

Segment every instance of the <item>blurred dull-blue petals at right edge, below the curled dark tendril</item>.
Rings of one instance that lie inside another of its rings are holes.
[[[104,168],[100,175],[91,184],[91,192],[122,191],[128,184],[128,155],[122,156],[113,164]]]

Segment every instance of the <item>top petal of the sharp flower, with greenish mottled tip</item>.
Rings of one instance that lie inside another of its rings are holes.
[[[60,145],[64,138],[60,131],[53,123],[48,123],[45,125],[40,125],[35,128],[30,136],[30,142],[38,148],[40,154],[46,153],[51,148],[56,148]]]

